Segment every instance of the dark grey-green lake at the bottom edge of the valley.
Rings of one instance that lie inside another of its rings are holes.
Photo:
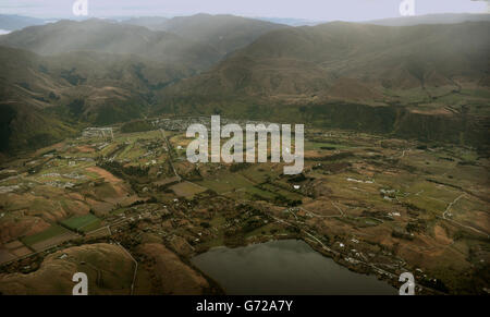
[[[217,247],[192,263],[230,295],[395,295],[375,276],[350,271],[297,240]]]

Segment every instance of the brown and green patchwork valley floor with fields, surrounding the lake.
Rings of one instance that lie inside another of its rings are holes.
[[[83,136],[3,163],[0,292],[220,294],[191,264],[211,247],[297,239],[421,294],[490,290],[488,155],[306,131],[305,169],[189,163],[181,121]]]

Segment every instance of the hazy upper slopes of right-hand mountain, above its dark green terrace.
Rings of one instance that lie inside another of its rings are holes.
[[[311,95],[363,100],[356,95],[364,89],[366,99],[396,101],[385,89],[456,88],[456,78],[485,82],[489,31],[483,22],[404,28],[339,22],[274,31],[171,90],[314,101]]]

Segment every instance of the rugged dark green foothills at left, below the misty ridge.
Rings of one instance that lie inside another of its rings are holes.
[[[48,145],[82,122],[144,117],[154,90],[193,71],[137,56],[68,52],[44,57],[0,47],[0,149]]]

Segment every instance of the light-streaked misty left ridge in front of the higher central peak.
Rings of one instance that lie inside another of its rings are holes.
[[[44,56],[81,50],[137,54],[159,62],[185,63],[196,71],[220,58],[212,47],[175,34],[95,19],[26,27],[0,37],[0,45]]]

